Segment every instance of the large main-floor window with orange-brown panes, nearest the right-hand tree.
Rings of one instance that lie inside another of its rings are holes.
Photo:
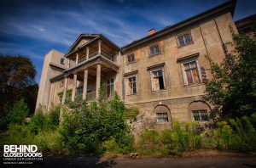
[[[198,64],[196,61],[183,64],[183,73],[185,83],[188,85],[194,83],[200,83],[201,77],[198,70]]]

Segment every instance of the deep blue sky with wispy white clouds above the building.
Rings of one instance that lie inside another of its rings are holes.
[[[226,0],[1,0],[0,54],[32,59],[40,81],[44,55],[67,53],[82,33],[101,33],[119,47],[200,14]],[[238,0],[234,20],[256,13]]]

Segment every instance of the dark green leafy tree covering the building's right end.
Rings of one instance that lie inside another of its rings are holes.
[[[213,79],[207,81],[206,99],[225,117],[252,115],[256,111],[256,42],[231,30],[235,50],[227,53],[222,64],[207,56]]]

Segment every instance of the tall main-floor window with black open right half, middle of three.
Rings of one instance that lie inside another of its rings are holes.
[[[159,91],[165,89],[163,70],[152,71],[152,90]]]

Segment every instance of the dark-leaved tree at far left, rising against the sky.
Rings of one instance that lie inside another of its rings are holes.
[[[24,56],[0,56],[0,115],[7,116],[21,98],[34,111],[38,93],[36,70],[31,59]],[[1,125],[3,124],[1,120]]]

